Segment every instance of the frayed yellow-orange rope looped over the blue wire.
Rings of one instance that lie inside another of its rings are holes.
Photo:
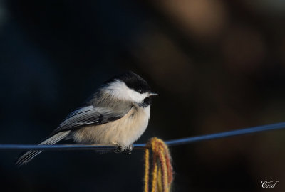
[[[145,149],[144,192],[149,192],[150,149],[152,150],[151,192],[169,192],[173,181],[172,159],[167,144],[157,137],[152,137],[147,142],[147,149]]]

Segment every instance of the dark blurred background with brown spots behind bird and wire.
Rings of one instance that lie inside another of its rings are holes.
[[[281,0],[0,0],[0,143],[34,144],[125,70],[160,94],[138,142],[285,119]],[[285,131],[171,148],[173,191],[285,191]],[[46,151],[0,191],[142,191],[142,151]]]

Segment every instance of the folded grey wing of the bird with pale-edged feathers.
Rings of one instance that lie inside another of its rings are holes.
[[[131,106],[118,107],[116,109],[110,107],[94,107],[93,105],[81,107],[71,114],[56,128],[53,134],[63,132],[70,129],[76,129],[88,124],[105,124],[113,122],[125,116],[131,109]]]

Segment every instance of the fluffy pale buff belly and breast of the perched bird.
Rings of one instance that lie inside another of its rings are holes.
[[[76,142],[88,144],[119,144],[123,148],[133,144],[147,128],[150,106],[132,109],[114,122],[90,125],[73,134]]]

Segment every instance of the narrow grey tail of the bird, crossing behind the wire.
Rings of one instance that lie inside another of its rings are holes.
[[[57,142],[61,141],[61,139],[64,139],[68,136],[70,131],[66,131],[66,132],[59,132],[57,134],[54,134],[51,137],[48,137],[48,139],[45,139],[43,142],[41,142],[38,145],[52,145],[52,144],[56,144]],[[35,156],[37,156],[38,154],[40,154],[42,151],[36,151],[36,150],[32,150],[32,151],[27,151],[24,154],[22,154],[16,161],[16,166],[22,166],[26,163],[28,163],[29,161],[31,161],[31,159],[33,159]]]

